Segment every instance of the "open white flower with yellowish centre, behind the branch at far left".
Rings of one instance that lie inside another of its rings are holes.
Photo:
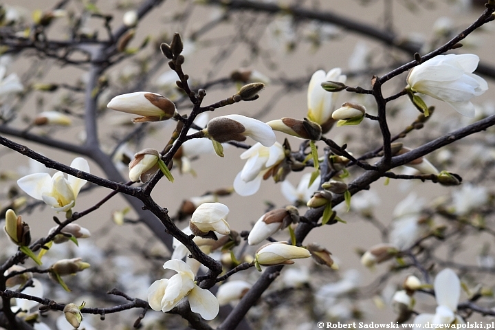
[[[71,167],[89,173],[89,164],[82,157],[74,159]],[[21,177],[17,184],[34,199],[52,206],[56,212],[67,212],[76,204],[76,197],[86,180],[72,175],[65,179],[62,172],[55,173],[53,177],[48,173],[34,173]]]

